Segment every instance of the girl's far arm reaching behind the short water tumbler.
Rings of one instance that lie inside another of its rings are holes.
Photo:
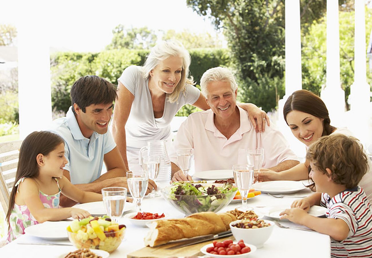
[[[58,180],[58,184],[60,185],[63,195],[76,202],[85,203],[102,201],[101,194],[83,191],[74,186],[65,176],[62,176],[61,179]]]

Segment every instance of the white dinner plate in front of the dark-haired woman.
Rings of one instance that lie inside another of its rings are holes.
[[[306,189],[306,186],[301,181],[268,181],[254,183],[252,185],[256,191],[261,191],[262,193],[295,193]]]

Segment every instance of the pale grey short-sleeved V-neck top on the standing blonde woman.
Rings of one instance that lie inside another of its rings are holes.
[[[148,79],[143,78],[141,69],[140,66],[129,66],[118,79],[134,95],[131,113],[125,125],[126,146],[130,150],[130,153],[127,152],[128,156],[135,156],[135,152],[138,155],[137,150],[148,141],[169,138],[170,122],[178,110],[185,104],[194,104],[200,96],[198,88],[186,84],[186,90],[180,92],[178,100],[174,103],[166,100],[163,116],[155,118]]]

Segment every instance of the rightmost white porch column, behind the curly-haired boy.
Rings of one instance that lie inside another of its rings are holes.
[[[365,1],[359,0],[355,1],[354,83],[350,86],[349,96],[354,121],[350,123],[350,129],[367,146],[371,144],[370,97],[366,75]]]

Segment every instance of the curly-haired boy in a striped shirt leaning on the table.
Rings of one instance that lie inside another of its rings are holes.
[[[368,171],[359,141],[341,134],[323,136],[306,155],[317,193],[293,202],[281,218],[331,237],[331,257],[372,257],[372,211],[358,183]],[[309,215],[312,205],[327,208],[327,218]]]

